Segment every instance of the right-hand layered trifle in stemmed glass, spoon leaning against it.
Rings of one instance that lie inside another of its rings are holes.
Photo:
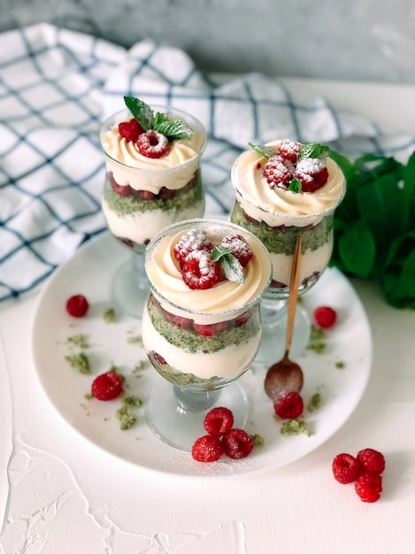
[[[319,143],[289,139],[250,144],[234,162],[232,183],[236,201],[231,221],[249,230],[265,244],[273,262],[273,280],[263,298],[265,333],[261,354],[283,353],[283,330],[289,277],[296,237],[301,236],[298,293],[319,280],[333,250],[334,210],[345,194],[340,167]],[[281,332],[280,332],[281,331]],[[304,349],[310,322],[297,310],[293,355]],[[277,347],[277,337],[281,341]],[[265,342],[270,342],[265,346]],[[279,349],[279,350],[278,350]],[[270,361],[270,360],[268,360]]]

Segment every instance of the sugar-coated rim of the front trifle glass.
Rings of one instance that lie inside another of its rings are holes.
[[[269,285],[273,278],[273,264],[269,255],[268,250],[265,248],[265,245],[257,238],[257,236],[253,235],[253,233],[250,233],[247,229],[244,229],[243,227],[239,225],[235,225],[234,223],[230,223],[228,221],[223,221],[221,219],[205,219],[205,218],[196,218],[196,219],[185,219],[183,221],[178,221],[177,223],[173,223],[172,225],[169,225],[168,227],[165,227],[163,231],[160,231],[157,235],[155,235],[149,244],[146,247],[145,256],[146,256],[146,262],[148,261],[148,258],[150,257],[150,254],[152,251],[156,248],[158,242],[164,238],[166,235],[172,236],[175,235],[175,233],[172,233],[174,229],[182,228],[183,231],[186,229],[189,229],[191,227],[195,227],[196,225],[200,226],[201,224],[204,224],[204,227],[212,227],[212,226],[218,226],[218,227],[227,227],[228,229],[232,229],[233,231],[236,231],[239,235],[247,235],[249,236],[254,242],[257,242],[258,246],[263,250],[265,254],[265,258],[268,260],[269,264],[269,276],[267,281],[265,282],[264,288],[250,301],[250,304],[245,304],[244,306],[241,306],[240,308],[234,308],[233,310],[227,310],[225,312],[198,312],[196,310],[189,310],[188,308],[183,308],[183,306],[179,304],[175,304],[165,296],[163,296],[156,287],[150,282],[150,292],[154,293],[156,296],[158,296],[162,301],[165,301],[167,304],[170,304],[173,306],[173,308],[176,308],[177,310],[180,310],[181,312],[188,312],[189,314],[194,314],[196,316],[215,316],[220,318],[221,316],[224,317],[224,319],[229,319],[227,316],[236,314],[239,312],[245,312],[250,310],[250,308],[257,304],[258,300],[265,294],[265,291],[269,288]]]

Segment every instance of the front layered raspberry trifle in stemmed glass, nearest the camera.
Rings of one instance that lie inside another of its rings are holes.
[[[146,417],[159,438],[190,450],[212,406],[232,410],[238,427],[246,422],[249,398],[236,380],[257,353],[271,262],[241,227],[192,219],[150,242],[145,267],[142,342],[164,378],[146,400]]]

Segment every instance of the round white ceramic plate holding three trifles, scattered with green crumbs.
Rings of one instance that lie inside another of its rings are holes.
[[[313,435],[281,435],[281,423],[273,418],[273,405],[263,390],[265,368],[259,365],[254,365],[240,380],[252,399],[247,431],[265,440],[248,458],[235,461],[222,457],[215,463],[198,463],[190,453],[173,449],[152,435],[142,407],[136,410],[138,419],[134,426],[121,431],[115,417],[119,399],[99,402],[86,398],[94,377],[115,364],[126,376],[128,394],[141,398],[155,380],[161,379],[150,365],[134,373],[135,365],[147,360],[141,345],[131,340],[141,334],[141,322],[129,318],[111,324],[104,321],[104,310],[110,307],[111,273],[128,256],[127,248],[111,235],[100,235],[88,242],[54,273],[35,312],[33,353],[42,388],[58,413],[88,441],[136,466],[163,473],[188,476],[253,473],[286,466],[304,457],[334,435],[355,410],[371,370],[372,338],[357,294],[342,273],[330,268],[304,296],[303,305],[310,313],[318,305],[332,305],[339,314],[338,322],[326,332],[324,353],[306,350],[297,358],[304,369],[304,403],[318,391],[322,398],[317,411],[305,412]],[[88,298],[90,308],[86,317],[75,319],[65,312],[66,299],[73,294]],[[85,352],[92,367],[91,375],[79,373],[65,360],[66,355],[76,350],[67,339],[76,334],[88,337],[90,346]],[[342,368],[336,365],[338,362]]]

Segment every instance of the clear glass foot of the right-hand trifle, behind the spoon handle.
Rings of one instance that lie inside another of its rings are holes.
[[[256,361],[267,367],[278,362],[285,352],[287,338],[287,302],[285,300],[266,303],[261,308],[263,329]],[[310,341],[311,321],[301,305],[296,306],[296,319],[289,357],[297,358]]]

